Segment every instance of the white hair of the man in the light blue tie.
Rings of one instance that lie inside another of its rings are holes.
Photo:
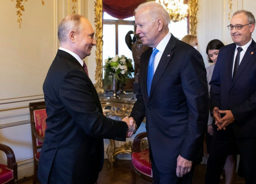
[[[149,1],[149,2],[142,3],[141,5],[139,5],[134,10],[134,13],[136,14],[136,12],[138,10],[141,10],[141,9],[144,9],[144,8],[149,11],[149,13],[150,13],[150,15],[152,17],[152,22],[157,21],[158,18],[162,18],[163,23],[165,25],[168,26],[168,24],[170,23],[170,16],[169,16],[169,14],[166,11],[166,9],[163,8],[163,6],[160,3],[154,2],[154,1]]]

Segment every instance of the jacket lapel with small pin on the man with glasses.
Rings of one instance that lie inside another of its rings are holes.
[[[243,72],[243,70],[245,69],[245,67],[247,66],[247,64],[250,62],[251,57],[253,57],[253,55],[256,52],[256,43],[254,42],[254,40],[251,42],[251,44],[249,45],[249,47],[247,48],[245,55],[242,58],[242,61],[238,67],[237,73],[235,73],[235,77],[232,81],[232,86],[234,85],[234,83],[239,79],[241,73]]]

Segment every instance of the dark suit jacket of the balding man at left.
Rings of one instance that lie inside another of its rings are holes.
[[[43,83],[47,129],[38,178],[42,184],[94,184],[103,167],[103,138],[126,140],[126,123],[106,118],[81,64],[58,50]]]

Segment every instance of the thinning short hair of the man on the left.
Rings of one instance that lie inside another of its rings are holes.
[[[61,23],[59,23],[58,26],[58,39],[60,43],[66,42],[67,41],[67,34],[71,31],[74,30],[78,34],[80,33],[82,29],[82,24],[81,24],[81,18],[83,16],[73,14],[66,16],[65,18],[62,19]]]

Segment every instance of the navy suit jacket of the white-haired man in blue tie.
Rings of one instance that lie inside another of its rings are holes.
[[[147,95],[152,48],[140,59],[139,94],[131,112],[138,125],[146,116],[147,136],[157,168],[176,172],[177,157],[197,158],[208,121],[208,88],[202,56],[173,35],[163,51]]]

